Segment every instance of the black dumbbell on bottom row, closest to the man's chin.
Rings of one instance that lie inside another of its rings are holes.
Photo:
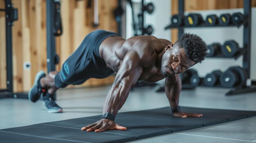
[[[189,84],[194,87],[200,83],[200,77],[198,77],[197,71],[193,69],[188,69],[180,74],[180,79],[182,84]]]

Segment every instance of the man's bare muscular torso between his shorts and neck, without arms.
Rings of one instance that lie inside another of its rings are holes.
[[[151,82],[152,80],[147,80],[148,77],[160,76],[157,69],[159,65],[156,65],[157,55],[170,43],[168,40],[157,39],[154,36],[135,36],[127,40],[114,36],[108,37],[102,42],[99,52],[108,68],[118,72],[126,54],[129,51],[134,51],[139,56],[138,66],[141,68],[138,80],[145,79],[145,81]],[[157,81],[163,78],[162,76],[158,77]]]

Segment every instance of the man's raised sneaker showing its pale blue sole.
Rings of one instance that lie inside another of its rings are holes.
[[[36,74],[34,85],[29,90],[29,94],[28,94],[30,101],[36,102],[40,98],[40,95],[43,93],[43,90],[44,90],[40,84],[40,79],[45,76],[46,76],[45,71],[43,70]]]

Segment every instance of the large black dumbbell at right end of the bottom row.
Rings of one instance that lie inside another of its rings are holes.
[[[232,88],[235,86],[245,86],[247,75],[243,68],[231,67],[220,76],[222,87]]]

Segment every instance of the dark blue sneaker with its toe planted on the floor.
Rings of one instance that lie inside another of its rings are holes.
[[[46,92],[43,95],[43,101],[49,113],[61,113],[63,112],[62,108],[54,101],[53,95],[50,95]]]

